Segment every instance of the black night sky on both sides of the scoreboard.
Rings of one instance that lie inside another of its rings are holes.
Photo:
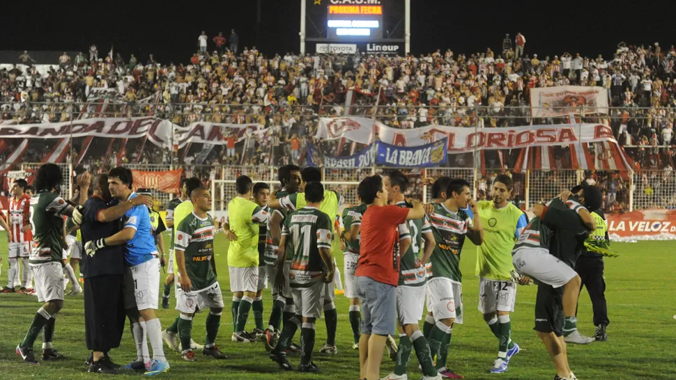
[[[230,29],[240,35],[240,50],[256,45],[263,54],[298,52],[299,0],[167,1],[3,1],[0,50],[86,52],[91,43],[105,56],[155,54],[165,63],[187,63],[202,30],[210,38]],[[411,1],[411,50],[414,54],[450,47],[454,52],[501,49],[502,38],[526,37],[526,54],[540,58],[580,52],[611,58],[617,42],[652,45],[663,51],[676,43],[676,5],[667,1],[620,6],[616,1]],[[495,3],[496,5],[491,5]],[[512,5],[516,4],[516,5]],[[67,5],[67,6],[66,6]],[[112,10],[114,9],[114,11]],[[211,42],[210,42],[211,44]],[[210,45],[211,46],[211,45]],[[211,49],[211,47],[210,47]]]

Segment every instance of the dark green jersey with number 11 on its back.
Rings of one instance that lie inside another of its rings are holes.
[[[282,236],[291,255],[289,285],[308,287],[323,277],[319,248],[331,249],[332,219],[315,207],[303,207],[286,216]]]

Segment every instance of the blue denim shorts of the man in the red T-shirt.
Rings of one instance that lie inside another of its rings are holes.
[[[370,277],[355,277],[362,301],[362,334],[390,335],[397,332],[397,287]]]

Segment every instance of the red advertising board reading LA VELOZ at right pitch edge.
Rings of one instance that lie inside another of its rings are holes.
[[[676,239],[676,210],[673,209],[607,214],[606,218],[608,235],[614,241]]]

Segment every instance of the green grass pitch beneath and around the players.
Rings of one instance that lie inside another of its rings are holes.
[[[0,232],[0,255],[2,273],[0,284],[6,285],[8,264],[6,258],[7,240]],[[180,354],[164,346],[171,370],[161,377],[165,379],[358,379],[358,352],[351,349],[352,333],[348,320],[348,300],[337,296],[338,334],[337,356],[322,357],[318,350],[325,340],[323,320],[317,321],[316,354],[314,362],[323,370],[322,374],[299,374],[281,372],[277,364],[270,361],[262,343],[250,345],[231,342],[231,294],[227,268],[227,242],[224,235],[217,235],[216,262],[225,310],[217,345],[229,359],[215,361],[197,352],[199,361],[187,363]],[[569,345],[571,368],[579,379],[675,379],[673,346],[676,321],[673,315],[673,274],[676,262],[671,257],[676,248],[674,242],[639,242],[637,244],[613,244],[620,258],[606,259],[606,298],[610,326],[608,342],[594,342],[588,346]],[[544,346],[537,339],[533,327],[535,286],[519,286],[516,297],[516,312],[512,315],[512,338],[521,346],[521,353],[514,356],[505,374],[490,374],[496,358],[498,342],[477,311],[478,283],[474,276],[475,247],[470,243],[463,251],[461,267],[464,274],[463,299],[465,302],[465,324],[454,328],[449,365],[466,379],[553,379],[554,370]],[[342,274],[342,254],[337,261]],[[164,280],[164,274],[162,274]],[[70,285],[68,285],[70,289]],[[161,290],[160,290],[161,294]],[[42,362],[40,365],[23,363],[15,354],[16,345],[22,340],[31,319],[40,304],[36,297],[23,294],[0,294],[0,374],[2,379],[25,379],[42,377],[50,379],[97,379],[102,375],[86,373],[84,359],[88,351],[84,342],[84,306],[82,295],[66,296],[65,307],[56,320],[54,348],[66,355],[59,362]],[[270,312],[270,290],[264,292],[264,322]],[[174,290],[171,292],[169,310],[159,310],[162,328],[167,328],[178,315]],[[202,312],[194,318],[193,338],[203,343],[205,336]],[[247,330],[254,328],[250,314]],[[422,326],[422,321],[421,321]],[[592,306],[586,291],[583,291],[578,314],[578,328],[585,335],[593,335]],[[299,341],[297,333],[294,342]],[[36,356],[39,355],[41,336],[36,341]],[[128,323],[119,349],[111,351],[118,364],[126,364],[136,357],[136,350]],[[39,356],[38,356],[39,357]],[[295,366],[298,356],[289,356]],[[410,379],[420,379],[415,354],[408,363]],[[394,370],[389,358],[383,359],[381,376]],[[129,376],[131,377],[131,376]],[[139,376],[135,376],[139,377]]]

